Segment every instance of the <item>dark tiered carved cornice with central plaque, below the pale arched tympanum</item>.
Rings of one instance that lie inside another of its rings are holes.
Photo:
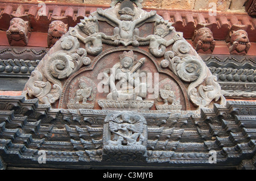
[[[211,169],[210,150],[216,151],[215,169],[240,169],[241,162],[255,162],[254,102],[228,101],[197,113],[159,113],[52,109],[38,99],[0,96],[0,109],[0,153],[6,165],[40,167],[39,150],[46,151],[44,166],[49,168],[129,162]],[[8,159],[10,155],[16,159]]]

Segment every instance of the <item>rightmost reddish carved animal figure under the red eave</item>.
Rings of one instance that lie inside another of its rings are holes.
[[[230,31],[230,54],[245,55],[251,47],[247,32],[244,30]]]

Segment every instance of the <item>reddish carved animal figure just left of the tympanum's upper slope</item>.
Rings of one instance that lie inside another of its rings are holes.
[[[57,40],[68,31],[68,25],[60,20],[55,20],[49,24],[47,43],[48,47],[53,46]]]

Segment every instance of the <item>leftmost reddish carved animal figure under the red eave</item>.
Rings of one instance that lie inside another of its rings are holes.
[[[21,18],[13,18],[9,30],[6,31],[7,39],[11,46],[26,46],[28,43],[29,23]]]

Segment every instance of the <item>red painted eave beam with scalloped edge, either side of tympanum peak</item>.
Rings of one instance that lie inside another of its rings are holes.
[[[17,1],[19,2],[19,1]],[[249,1],[250,2],[250,1]],[[253,1],[255,2],[255,1]],[[80,23],[80,19],[84,16],[89,16],[91,12],[96,11],[97,7],[106,9],[106,5],[86,5],[76,3],[50,3],[44,2],[46,9],[44,14],[38,14],[42,11],[44,6],[36,2],[19,2],[24,9],[23,14],[28,17],[33,32],[48,32],[48,25],[53,20],[53,15],[65,16],[68,20],[69,27],[75,27]],[[255,3],[254,3],[255,4]],[[0,9],[2,9],[2,16],[0,18],[1,28],[4,31],[8,30],[11,14],[16,12],[18,5],[15,1],[6,2],[0,1]],[[146,11],[151,11],[148,7],[143,8]],[[191,39],[194,31],[201,27],[201,24],[206,23],[213,32],[215,40],[225,40],[228,35],[234,19],[237,19],[239,24],[246,27],[251,42],[256,41],[256,19],[242,12],[217,12],[216,16],[211,16],[209,11],[203,10],[171,10],[171,9],[158,9],[157,14],[163,16],[164,19],[170,20],[172,26],[176,31],[183,32],[185,39]],[[20,14],[22,15],[22,14]]]

